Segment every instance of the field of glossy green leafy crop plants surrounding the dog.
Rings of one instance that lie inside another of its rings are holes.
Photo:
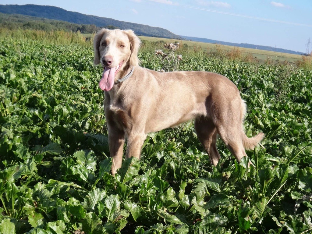
[[[311,233],[312,71],[183,56],[229,77],[248,105],[238,163],[217,167],[192,123],[150,134],[116,177],[88,45],[0,39],[0,233]],[[140,53],[142,66],[160,58]]]

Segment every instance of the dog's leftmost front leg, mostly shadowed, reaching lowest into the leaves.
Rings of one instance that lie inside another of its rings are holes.
[[[121,167],[122,156],[124,154],[124,131],[119,129],[109,129],[108,145],[110,148],[110,157],[113,158],[112,174],[115,175],[118,168]]]

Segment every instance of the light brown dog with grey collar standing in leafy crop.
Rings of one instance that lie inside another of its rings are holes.
[[[142,68],[140,43],[132,30],[101,29],[94,37],[94,64],[104,68],[99,85],[105,91],[112,174],[121,167],[125,138],[126,157],[140,158],[148,133],[191,119],[213,165],[220,159],[217,134],[238,161],[264,137],[259,133],[248,138],[244,133],[246,104],[231,80],[212,72]],[[125,76],[129,78],[123,81]]]

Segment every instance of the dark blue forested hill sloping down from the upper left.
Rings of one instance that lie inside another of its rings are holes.
[[[119,21],[115,19],[85,15],[79,12],[66,11],[60,7],[40,5],[0,5],[0,12],[6,14],[22,14],[48,19],[62,20],[75,24],[94,24],[97,27],[114,26],[120,29],[132,29],[137,35],[182,39],[167,29],[151,27],[143,24]]]

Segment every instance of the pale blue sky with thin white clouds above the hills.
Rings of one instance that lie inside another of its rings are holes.
[[[177,35],[305,52],[311,0],[0,0],[37,4],[168,29]],[[310,52],[309,51],[309,52]]]

